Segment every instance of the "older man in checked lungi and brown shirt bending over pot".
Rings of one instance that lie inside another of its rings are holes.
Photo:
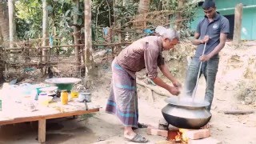
[[[148,142],[140,134],[134,133],[138,127],[138,96],[135,73],[146,68],[148,77],[158,86],[178,95],[181,84],[174,78],[164,63],[162,50],[170,50],[178,43],[175,30],[158,26],[159,36],[141,38],[127,46],[112,62],[112,84],[106,112],[115,114],[124,125],[124,138],[131,142]],[[174,86],[170,86],[158,77],[160,68]]]

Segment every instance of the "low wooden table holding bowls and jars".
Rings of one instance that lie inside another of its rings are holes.
[[[38,142],[46,142],[46,119],[64,118],[74,115],[90,114],[99,111],[99,106],[87,102],[69,102],[68,105],[62,105],[60,102],[52,102],[49,106],[38,106],[38,110],[24,110],[22,104],[11,106],[12,109],[0,111],[0,126],[20,122],[38,121]]]

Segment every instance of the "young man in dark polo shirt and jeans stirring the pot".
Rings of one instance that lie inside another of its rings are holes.
[[[225,46],[226,36],[230,33],[230,24],[227,18],[218,14],[213,0],[203,2],[202,9],[206,15],[198,23],[194,40],[192,40],[192,43],[198,47],[187,71],[186,94],[193,94],[200,62],[202,62],[200,76],[203,74],[206,78],[205,100],[210,102],[210,105],[207,106],[207,110],[210,111],[210,106],[214,98],[214,83],[218,71],[218,52]],[[205,43],[206,50],[202,54]]]

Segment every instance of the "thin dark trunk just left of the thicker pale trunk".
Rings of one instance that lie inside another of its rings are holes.
[[[79,9],[79,0],[74,0],[74,6],[77,6]],[[78,45],[80,44],[79,42],[79,38],[80,38],[80,29],[78,29],[78,15],[74,14],[74,45]],[[80,47],[79,46],[74,46],[74,54],[75,54],[75,62],[78,63],[76,70],[77,70],[77,74],[79,71],[79,66],[81,63],[81,57],[80,57]]]

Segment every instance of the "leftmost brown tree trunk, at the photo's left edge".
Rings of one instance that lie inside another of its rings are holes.
[[[3,41],[9,39],[8,9],[5,3],[0,2],[0,27]]]

